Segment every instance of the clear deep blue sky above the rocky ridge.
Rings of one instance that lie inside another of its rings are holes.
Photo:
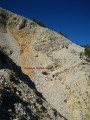
[[[0,6],[90,45],[90,0],[0,0]]]

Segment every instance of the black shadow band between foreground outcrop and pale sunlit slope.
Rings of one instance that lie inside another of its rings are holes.
[[[37,96],[45,100],[42,94],[36,90],[34,82],[26,74],[24,74],[21,70],[21,67],[17,66],[2,50],[0,50],[0,68],[13,70],[18,75],[19,79],[27,84],[28,87],[35,90]]]

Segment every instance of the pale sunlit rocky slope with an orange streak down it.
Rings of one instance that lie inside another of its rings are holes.
[[[33,81],[46,101],[60,113],[57,112],[56,117],[52,119],[90,119],[90,62],[86,61],[84,54],[81,56],[81,53],[84,53],[83,47],[73,44],[57,32],[2,8],[0,8],[0,46]],[[21,74],[16,71],[14,72],[17,75]],[[8,82],[12,84],[10,79]],[[19,85],[17,90],[18,88]],[[27,87],[24,88],[27,91]],[[25,89],[20,89],[23,90]],[[21,99],[20,95],[18,96]],[[28,97],[26,101],[30,99]],[[46,109],[48,111],[48,107]],[[43,119],[46,120],[47,115],[45,112],[43,114]],[[52,116],[51,113],[49,115]]]

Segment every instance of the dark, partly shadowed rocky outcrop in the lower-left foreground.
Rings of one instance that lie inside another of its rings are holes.
[[[18,74],[19,73],[19,74]],[[66,120],[0,50],[0,120]]]

